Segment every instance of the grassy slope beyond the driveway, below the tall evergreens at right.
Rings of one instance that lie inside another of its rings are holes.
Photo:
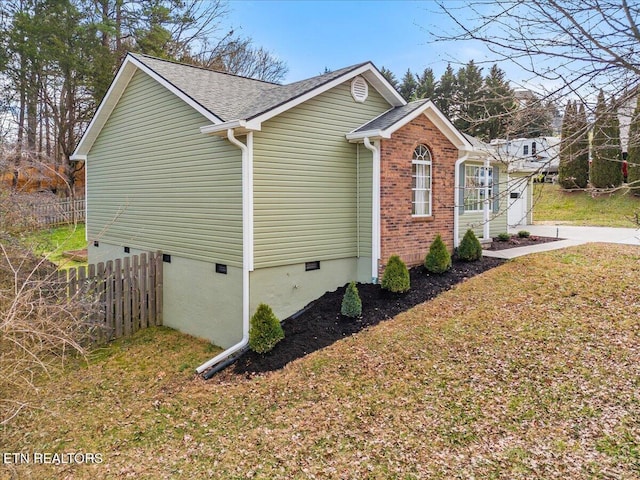
[[[599,227],[637,226],[640,197],[627,187],[593,196],[587,191],[564,191],[559,185],[535,184],[533,220]]]

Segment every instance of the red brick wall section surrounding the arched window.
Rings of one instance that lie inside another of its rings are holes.
[[[432,216],[411,216],[411,160],[419,144],[432,156]],[[453,250],[454,173],[458,149],[424,115],[420,115],[380,146],[381,263],[399,255],[407,266],[422,264],[439,233]]]

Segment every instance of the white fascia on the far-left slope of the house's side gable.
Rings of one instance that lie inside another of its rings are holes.
[[[109,90],[107,90],[106,95],[100,102],[96,113],[93,115],[89,126],[82,134],[82,138],[80,138],[80,142],[78,142],[78,146],[74,150],[71,155],[71,159],[78,157],[85,157],[91,150],[93,143],[96,141],[98,134],[104,127],[107,119],[111,116],[111,112],[116,107],[122,93],[124,92],[127,85],[129,85],[129,81],[133,77],[133,74],[136,71],[136,67],[130,61],[131,57],[125,58],[124,63],[118,70],[116,77],[111,82],[109,86]]]

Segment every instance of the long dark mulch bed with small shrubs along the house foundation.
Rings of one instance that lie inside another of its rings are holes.
[[[477,262],[454,261],[451,270],[442,275],[428,274],[424,267],[415,267],[410,270],[411,290],[405,294],[392,294],[382,290],[380,285],[360,284],[362,317],[357,320],[340,314],[346,286],[327,292],[302,314],[282,322],[285,338],[271,352],[257,354],[249,351],[216,377],[220,380],[230,380],[235,376],[250,378],[254,374],[278,370],[297,358],[431,300],[457,283],[503,262],[489,257]]]

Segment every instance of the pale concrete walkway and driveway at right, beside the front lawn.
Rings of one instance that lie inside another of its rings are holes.
[[[624,243],[627,245],[640,245],[640,229],[613,228],[613,227],[577,227],[572,225],[527,225],[512,229],[509,233],[517,233],[519,230],[527,230],[531,235],[539,237],[556,237],[564,240],[556,242],[529,245],[526,247],[509,248],[507,250],[483,250],[485,257],[516,258],[530,253],[548,252],[560,248],[582,245],[584,243]]]

